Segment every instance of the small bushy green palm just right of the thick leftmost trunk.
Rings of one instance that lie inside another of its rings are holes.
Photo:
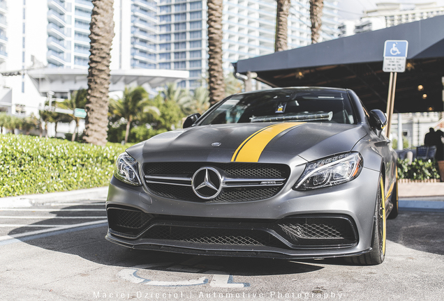
[[[154,112],[160,115],[160,111],[153,106],[147,105],[148,93],[142,86],[135,88],[125,87],[122,98],[114,100],[111,99],[111,113],[119,118],[126,120],[125,143],[128,142],[129,132],[131,130],[131,123],[141,118],[142,113]]]

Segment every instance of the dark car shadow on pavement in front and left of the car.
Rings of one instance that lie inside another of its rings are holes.
[[[99,205],[98,205],[99,206]],[[103,203],[100,204],[103,208]],[[80,209],[82,206],[67,206],[63,209]],[[83,207],[84,208],[84,207]],[[94,208],[88,206],[88,208]],[[99,208],[99,207],[97,207]],[[63,215],[64,217],[79,215],[79,212],[69,213],[53,211],[54,217]],[[102,213],[103,214],[103,213]],[[82,216],[94,216],[97,213],[82,213]],[[104,216],[105,218],[105,216]],[[75,219],[64,219],[76,224]],[[42,229],[39,225],[57,224],[59,219],[49,218],[36,222],[35,228],[17,228],[10,231],[8,235],[24,233],[27,231]],[[215,269],[224,272],[230,272],[230,275],[288,275],[314,272],[323,269],[323,266],[317,265],[316,261],[287,261],[281,259],[268,258],[239,258],[222,256],[194,256],[188,254],[175,254],[167,252],[145,251],[128,249],[115,245],[105,240],[108,231],[108,224],[89,225],[80,228],[64,229],[49,233],[39,233],[34,236],[19,237],[17,240],[26,242],[35,247],[51,250],[54,252],[63,252],[80,256],[87,261],[99,263],[102,265],[112,265],[124,268],[135,265],[149,265],[153,263],[174,263],[180,265],[188,261],[198,261],[198,265],[208,267],[209,270]],[[341,258],[333,259],[337,264],[345,264]],[[166,270],[168,267],[156,267],[156,270]],[[169,270],[169,272],[171,272]]]

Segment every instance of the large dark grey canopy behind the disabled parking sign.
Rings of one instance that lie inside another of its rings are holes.
[[[398,73],[394,112],[444,111],[444,15],[358,33],[233,63],[270,86],[350,88],[367,109],[386,110],[385,40],[408,40],[406,72]]]

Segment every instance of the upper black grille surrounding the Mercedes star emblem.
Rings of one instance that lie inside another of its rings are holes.
[[[148,189],[155,195],[167,199],[196,201],[202,203],[228,203],[269,199],[281,191],[290,175],[290,168],[284,164],[264,163],[212,163],[212,162],[151,162],[143,165],[144,176],[175,176],[191,178],[201,167],[215,167],[224,176],[236,179],[285,179],[282,185],[256,187],[224,187],[215,199],[204,200],[197,196],[191,186],[149,183]],[[209,192],[212,194],[214,192]]]

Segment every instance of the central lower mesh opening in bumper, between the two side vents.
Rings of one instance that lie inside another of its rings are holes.
[[[263,231],[239,229],[205,229],[179,226],[154,226],[144,238],[197,242],[209,245],[254,245],[277,247],[282,243]]]

